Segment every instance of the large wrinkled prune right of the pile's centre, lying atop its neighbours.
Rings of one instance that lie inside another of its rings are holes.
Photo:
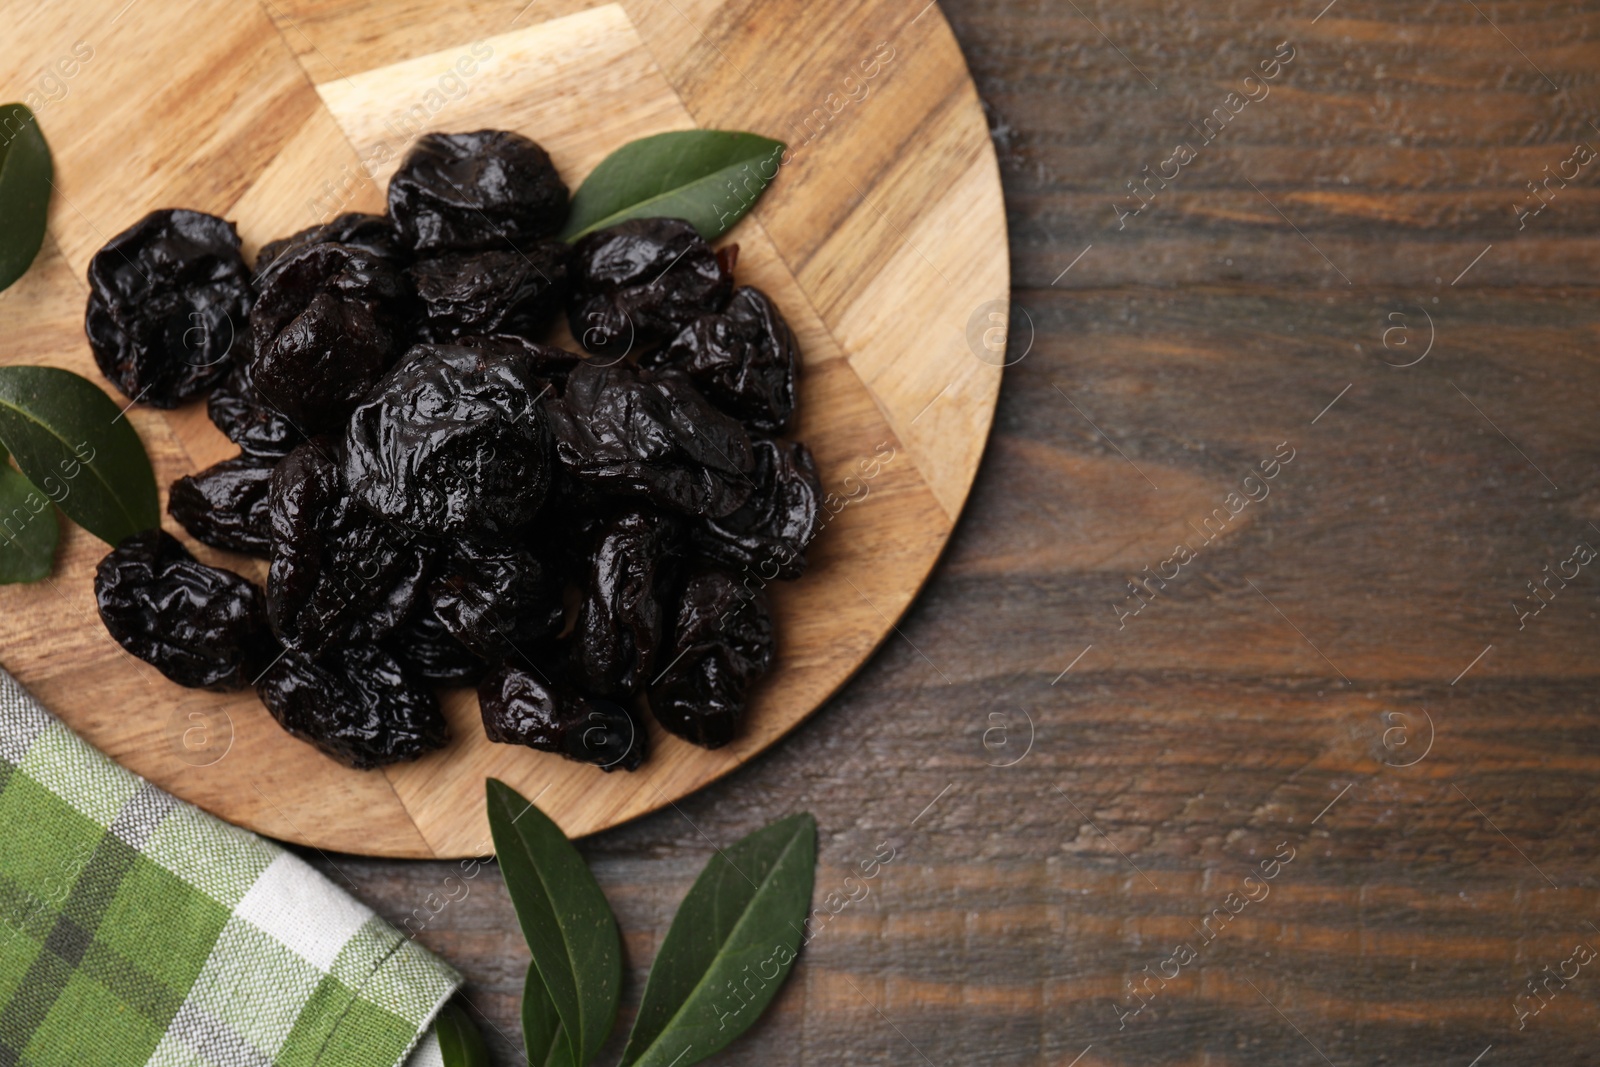
[[[546,410],[562,466],[597,490],[714,517],[750,496],[749,435],[682,374],[582,363]]]

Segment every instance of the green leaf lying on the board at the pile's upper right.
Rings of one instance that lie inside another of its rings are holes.
[[[563,240],[624,219],[688,219],[715,240],[744,218],[778,174],[782,141],[728,130],[680,130],[630,141],[600,160],[573,194]]]

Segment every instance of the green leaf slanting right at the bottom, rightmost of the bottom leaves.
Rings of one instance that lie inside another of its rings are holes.
[[[656,953],[624,1067],[698,1064],[760,1017],[800,949],[814,867],[805,813],[706,864]]]

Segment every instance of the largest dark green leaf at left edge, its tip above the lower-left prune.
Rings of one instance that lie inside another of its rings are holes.
[[[0,366],[0,445],[67,518],[106,544],[162,522],[139,435],[88,379],[53,366]]]

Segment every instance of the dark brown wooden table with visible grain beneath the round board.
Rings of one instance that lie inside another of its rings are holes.
[[[1600,6],[1323,3],[941,5],[1030,326],[904,637],[582,845],[626,1014],[805,808],[894,861],[715,1062],[1600,1061]],[[517,1062],[491,865],[312,859]]]

